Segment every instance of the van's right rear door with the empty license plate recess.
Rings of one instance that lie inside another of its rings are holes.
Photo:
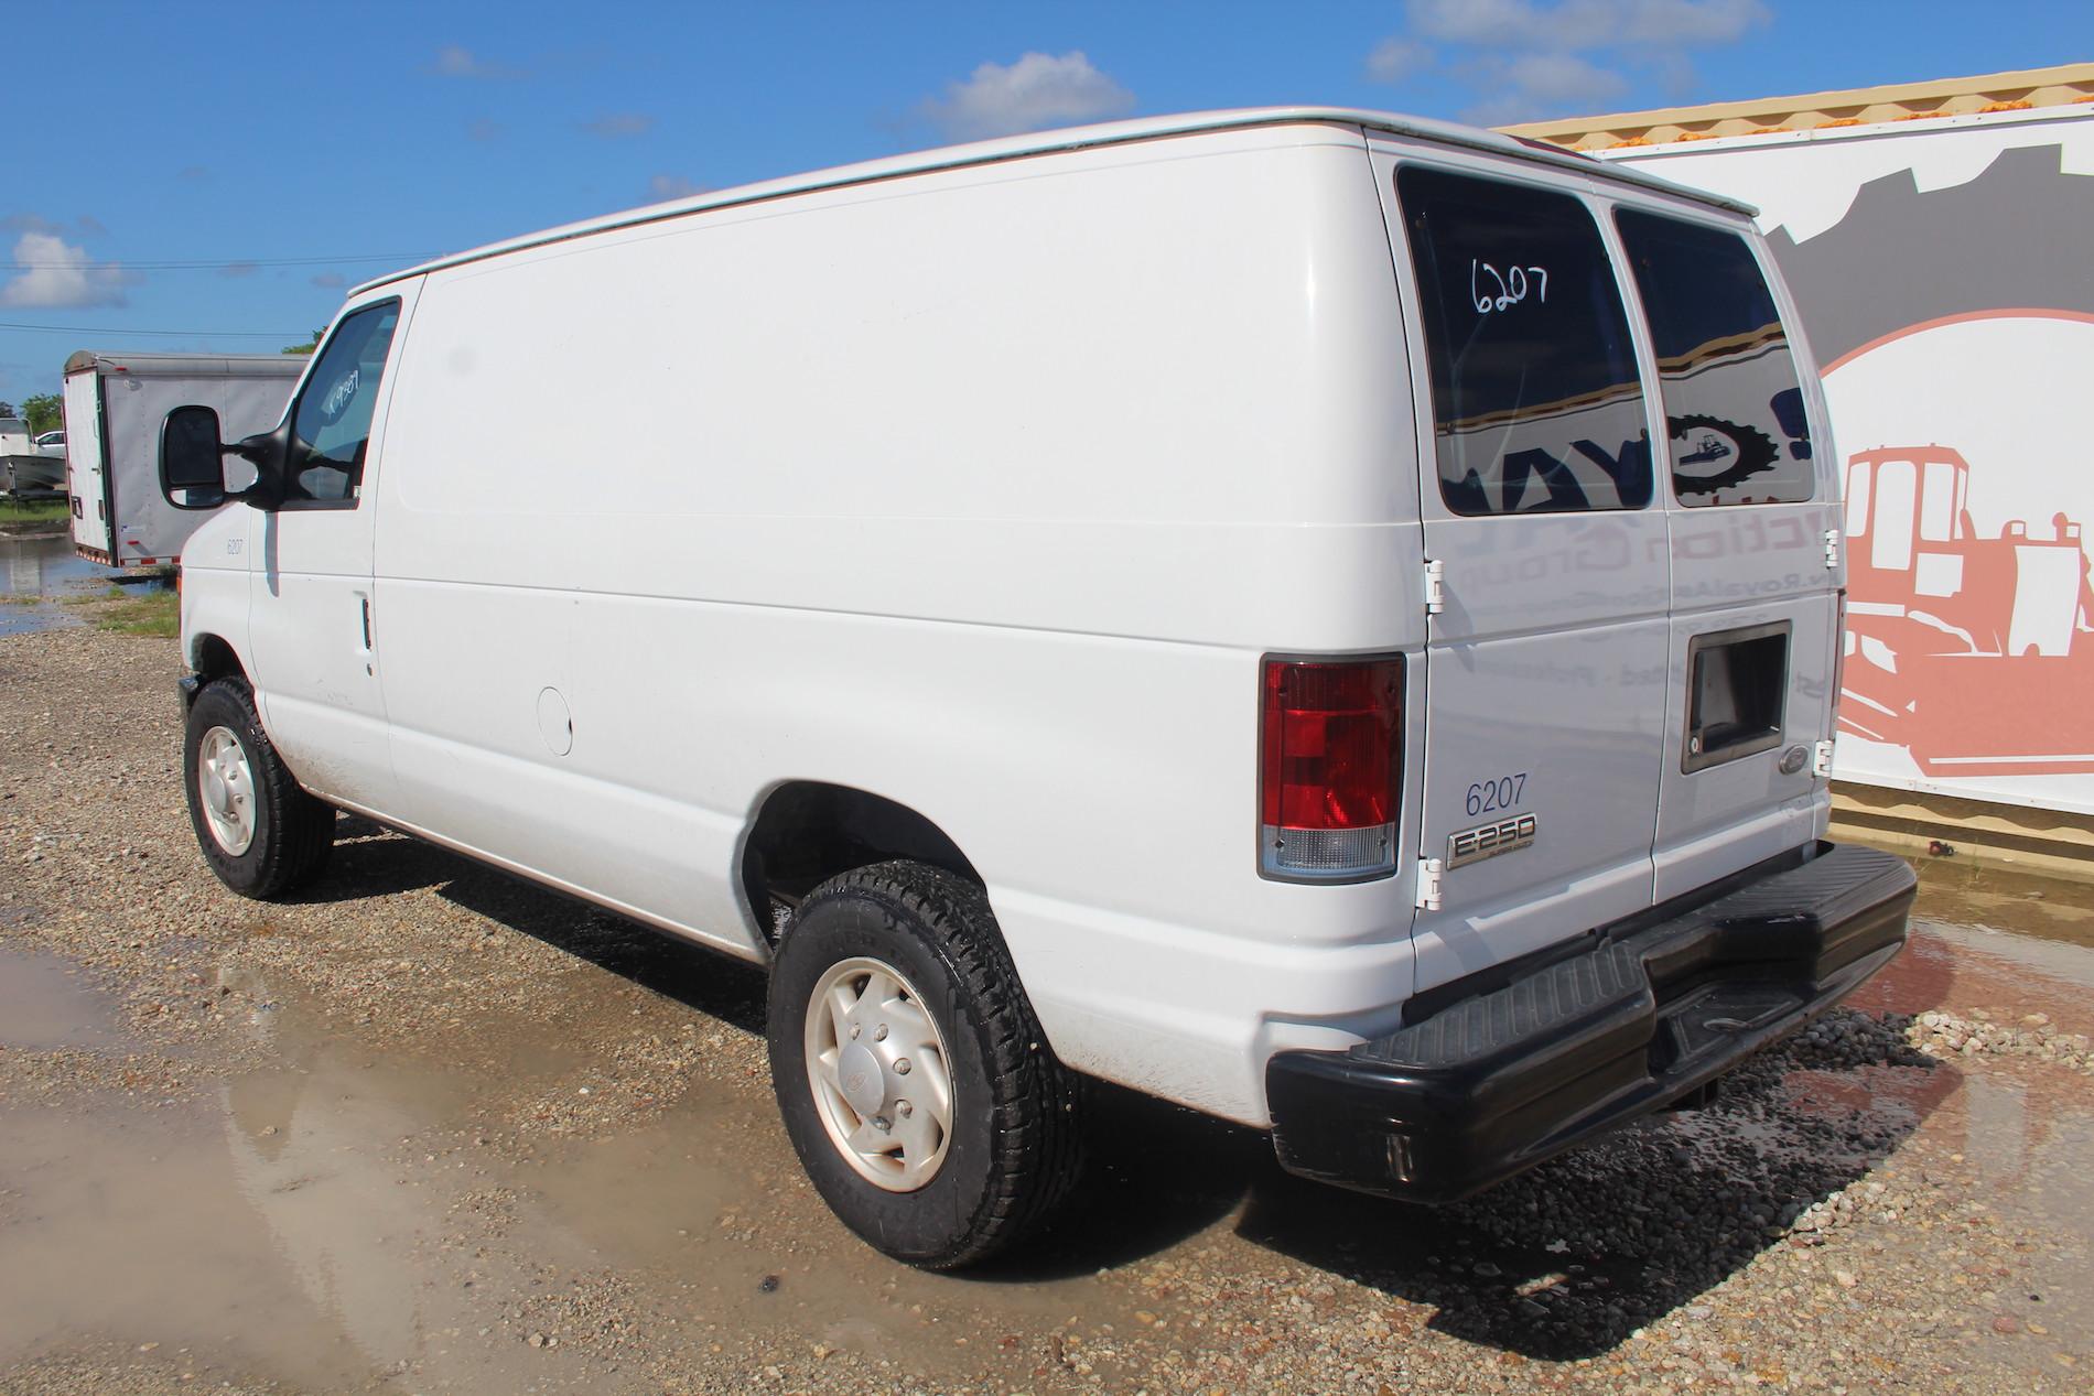
[[[1656,896],[1807,843],[1839,645],[1836,481],[1815,373],[1757,239],[1721,213],[1614,207],[1667,448],[1671,676]],[[1832,546],[1828,546],[1832,544]]]

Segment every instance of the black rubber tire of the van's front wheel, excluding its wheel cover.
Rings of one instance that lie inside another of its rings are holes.
[[[253,802],[253,835],[237,852],[211,829],[199,783],[199,756],[214,730],[226,730],[239,741],[251,776],[247,797]],[[182,789],[188,793],[188,823],[197,831],[203,860],[218,873],[218,881],[241,896],[279,898],[310,883],[327,866],[335,848],[335,810],[308,795],[285,768],[262,730],[262,716],[245,680],[214,680],[191,705],[182,737]]]

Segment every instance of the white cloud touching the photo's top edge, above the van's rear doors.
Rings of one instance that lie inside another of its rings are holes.
[[[1684,48],[1730,44],[1769,19],[1765,0],[1411,0],[1411,27],[1483,48]]]

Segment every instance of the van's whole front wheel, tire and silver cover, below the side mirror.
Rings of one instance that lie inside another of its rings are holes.
[[[243,680],[220,678],[191,705],[182,785],[203,860],[241,896],[283,896],[327,866],[335,810],[285,768]]]

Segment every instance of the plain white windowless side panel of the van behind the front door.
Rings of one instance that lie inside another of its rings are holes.
[[[1256,875],[1261,655],[1422,643],[1409,423],[1357,130],[431,272],[377,486],[387,814],[760,956],[743,829],[856,785],[984,875],[1070,1065],[1263,1122],[1275,1042],[1411,990],[1409,869]]]

